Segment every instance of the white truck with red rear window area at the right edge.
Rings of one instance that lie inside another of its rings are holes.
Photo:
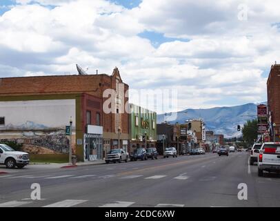
[[[258,175],[263,176],[263,171],[280,172],[280,142],[263,143],[259,151]]]

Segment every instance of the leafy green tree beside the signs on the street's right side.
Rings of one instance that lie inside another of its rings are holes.
[[[243,140],[247,143],[254,143],[254,140],[257,140],[258,137],[258,120],[249,119],[242,128]]]

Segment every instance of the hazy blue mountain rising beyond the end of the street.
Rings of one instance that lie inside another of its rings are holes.
[[[261,104],[266,104],[263,102]],[[202,118],[206,123],[207,131],[214,131],[216,134],[223,134],[225,137],[239,137],[241,132],[237,131],[237,125],[243,126],[248,119],[257,118],[258,104],[244,104],[231,107],[217,107],[208,109],[186,109],[177,113],[176,118],[166,116],[166,121],[175,124],[182,124],[186,119]],[[165,115],[157,115],[157,123],[165,121]]]

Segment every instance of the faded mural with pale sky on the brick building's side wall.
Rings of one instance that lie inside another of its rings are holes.
[[[65,126],[72,116],[75,137],[74,99],[0,102],[0,116],[6,121],[0,142],[22,144],[23,151],[33,154],[69,153]]]

